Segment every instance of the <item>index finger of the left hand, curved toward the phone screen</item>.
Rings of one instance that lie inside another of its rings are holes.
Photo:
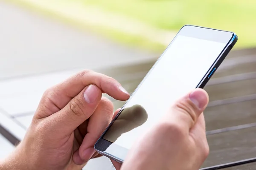
[[[84,70],[49,89],[49,94],[44,95],[41,102],[44,102],[44,99],[50,99],[52,104],[62,109],[71,99],[78,95],[84,87],[90,84],[95,84],[102,92],[105,92],[117,100],[127,100],[130,96],[122,85],[112,77],[94,71]]]

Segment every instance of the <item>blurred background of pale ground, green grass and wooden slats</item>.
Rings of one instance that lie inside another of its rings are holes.
[[[0,0],[0,158],[23,138],[47,88],[93,69],[132,93],[177,31],[191,24],[239,36],[206,87],[213,152],[204,167],[249,159],[256,153],[248,147],[256,126],[255,18],[255,0]],[[113,166],[102,157],[84,169]]]

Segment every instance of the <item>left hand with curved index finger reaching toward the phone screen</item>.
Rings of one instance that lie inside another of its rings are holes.
[[[98,156],[93,146],[113,119],[113,104],[102,97],[127,100],[113,78],[82,71],[48,89],[25,138],[5,161],[6,169],[81,170]]]

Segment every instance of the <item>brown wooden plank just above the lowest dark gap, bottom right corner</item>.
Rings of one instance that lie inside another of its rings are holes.
[[[256,127],[207,136],[210,154],[203,167],[250,159],[256,155]]]

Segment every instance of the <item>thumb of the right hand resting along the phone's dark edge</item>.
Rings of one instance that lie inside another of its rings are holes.
[[[171,111],[167,115],[166,120],[179,124],[186,130],[190,130],[197,122],[198,117],[207,107],[209,96],[206,91],[196,88],[186,96],[177,100],[171,107]]]

